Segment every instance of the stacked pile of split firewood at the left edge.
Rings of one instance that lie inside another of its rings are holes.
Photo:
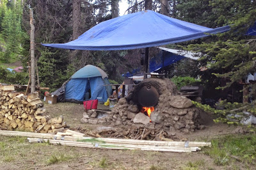
[[[67,125],[60,118],[45,116],[38,92],[25,96],[14,86],[0,86],[0,129],[56,133]]]

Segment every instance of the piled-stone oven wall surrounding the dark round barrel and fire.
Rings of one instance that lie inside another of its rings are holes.
[[[154,86],[159,93],[159,101],[150,118],[141,111],[138,91],[143,86]],[[108,123],[113,126],[143,125],[146,128],[164,129],[166,132],[194,132],[200,128],[200,110],[191,100],[177,95],[177,88],[169,79],[150,78],[140,82],[126,98],[120,98],[106,118],[97,119],[96,111],[88,111],[82,119],[84,123]],[[151,122],[150,122],[151,120]]]

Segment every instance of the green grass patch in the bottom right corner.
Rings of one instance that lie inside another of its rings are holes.
[[[246,164],[255,165],[256,135],[228,135],[211,141],[211,148],[204,148],[204,153],[214,158],[217,165],[227,165],[236,158]]]

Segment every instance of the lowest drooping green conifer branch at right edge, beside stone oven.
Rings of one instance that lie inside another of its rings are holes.
[[[214,109],[209,105],[203,105],[198,102],[192,101],[196,107],[203,109],[205,112],[212,112],[218,116],[216,123],[223,122],[228,125],[240,125],[241,121],[249,118],[250,114],[256,116],[256,105],[252,104],[241,104],[241,103],[230,103],[227,100],[222,100],[216,106],[220,109]],[[250,114],[247,114],[249,112]]]

